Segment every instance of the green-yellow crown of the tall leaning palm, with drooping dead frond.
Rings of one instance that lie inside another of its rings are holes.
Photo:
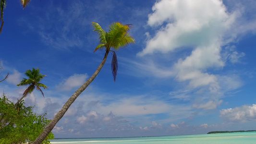
[[[119,50],[131,43],[135,44],[135,39],[130,36],[129,30],[132,27],[132,24],[123,25],[121,23],[112,23],[109,26],[109,32],[105,32],[98,23],[92,23],[94,28],[93,31],[96,31],[99,35],[99,45],[95,48],[94,52],[98,49],[106,48],[106,53],[109,51],[113,52],[111,69],[116,81],[116,75],[118,70],[118,62],[116,53],[113,50]],[[113,50],[110,50],[112,48]]]

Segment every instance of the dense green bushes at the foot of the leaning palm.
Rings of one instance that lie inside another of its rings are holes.
[[[6,96],[0,98],[0,144],[31,143],[49,124],[46,114],[37,116],[31,107],[26,108],[23,103],[20,104],[18,110]],[[53,138],[50,132],[42,144],[49,144],[49,139]]]

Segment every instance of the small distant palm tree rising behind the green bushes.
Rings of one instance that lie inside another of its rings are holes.
[[[18,99],[17,103],[15,104],[15,106],[17,106],[20,101],[25,97],[27,96],[28,94],[31,94],[34,89],[36,88],[38,91],[41,92],[41,94],[44,96],[44,93],[43,91],[41,90],[40,87],[43,87],[44,89],[48,88],[46,85],[44,84],[41,84],[39,83],[46,75],[42,75],[40,72],[39,72],[39,69],[35,69],[35,68],[32,68],[32,71],[31,70],[27,70],[25,72],[25,75],[28,77],[28,79],[26,78],[23,78],[23,80],[21,81],[20,84],[17,84],[17,86],[21,86],[21,85],[29,85],[27,87],[27,89],[24,91],[23,93],[23,96]]]

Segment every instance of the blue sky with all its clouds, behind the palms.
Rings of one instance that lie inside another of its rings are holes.
[[[113,22],[133,24],[136,44],[116,51],[52,132],[56,138],[256,130],[255,0],[9,0],[0,34],[0,91],[10,100],[39,68],[45,97],[24,98],[52,119],[96,71],[93,52]]]

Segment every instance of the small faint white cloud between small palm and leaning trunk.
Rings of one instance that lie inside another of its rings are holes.
[[[57,85],[56,88],[62,91],[69,91],[84,84],[86,78],[88,78],[87,74],[74,74],[64,80],[61,84]]]

